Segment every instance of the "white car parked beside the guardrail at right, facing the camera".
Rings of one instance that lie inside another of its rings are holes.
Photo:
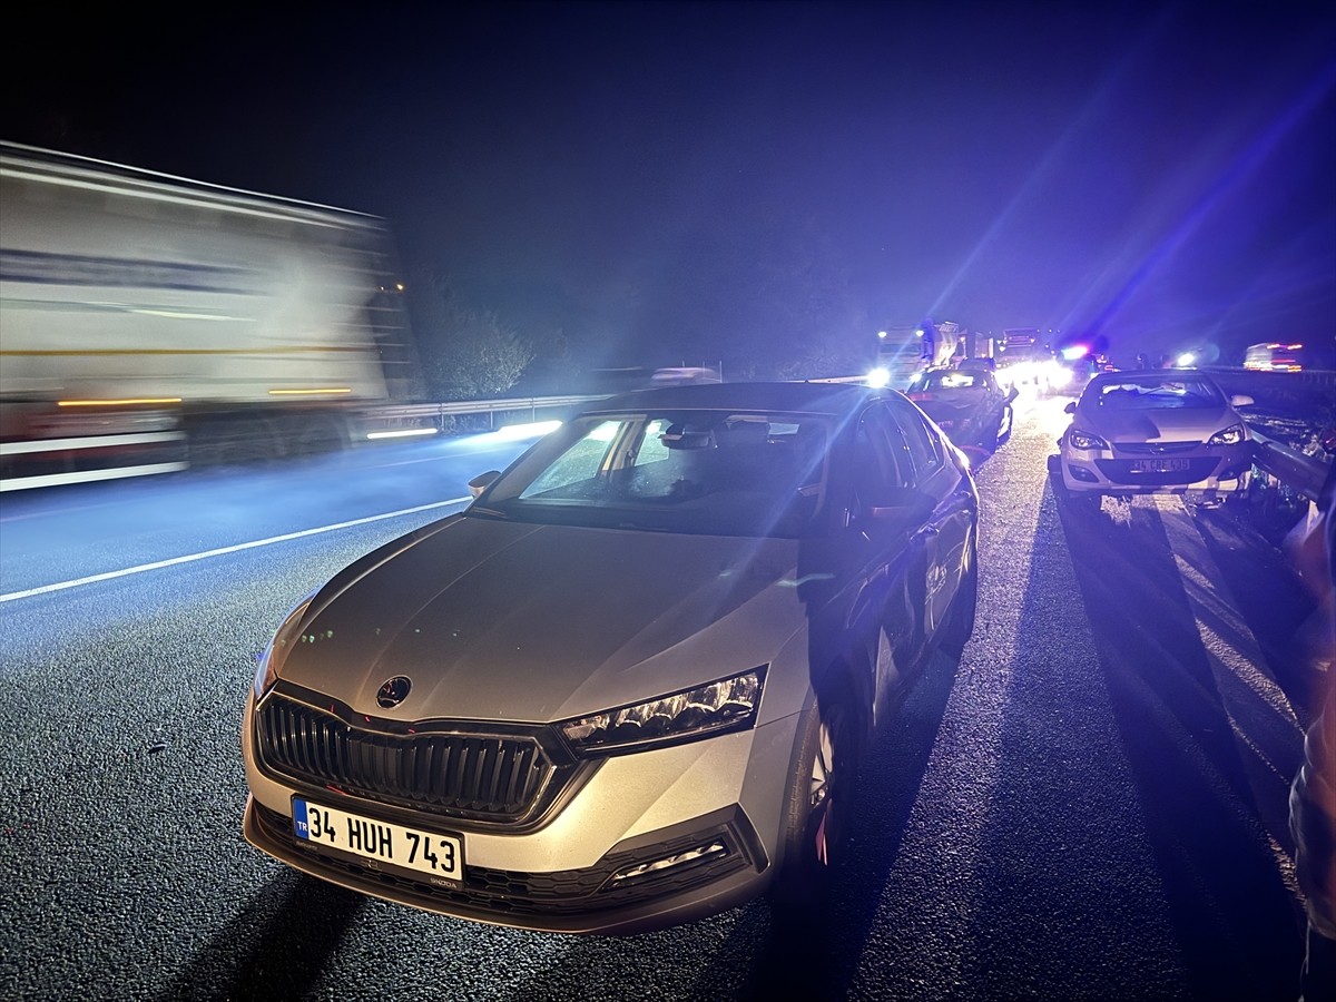
[[[1067,403],[1071,425],[1050,472],[1073,505],[1098,508],[1105,496],[1185,494],[1218,501],[1246,486],[1248,426],[1206,373],[1152,369],[1101,373]]]

